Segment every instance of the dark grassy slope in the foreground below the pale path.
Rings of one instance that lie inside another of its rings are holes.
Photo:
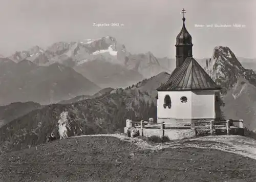
[[[233,153],[197,148],[141,149],[115,137],[69,138],[0,157],[0,181],[6,182],[241,182],[256,181],[255,169],[254,160]]]

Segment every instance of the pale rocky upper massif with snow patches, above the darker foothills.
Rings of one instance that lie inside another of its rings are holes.
[[[12,60],[15,62],[23,59],[40,66],[49,66],[58,62],[73,68],[93,64],[89,63],[92,61],[95,62],[95,65],[108,62],[119,64],[128,70],[141,72],[145,78],[166,71],[151,52],[132,55],[126,50],[124,44],[117,42],[116,38],[110,35],[97,39],[58,41],[50,45],[46,51],[35,46],[27,52],[16,52],[12,56]]]

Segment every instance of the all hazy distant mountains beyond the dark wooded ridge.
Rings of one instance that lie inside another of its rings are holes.
[[[197,59],[197,61],[205,67],[206,59],[209,58]],[[252,67],[252,60],[240,59],[245,66]],[[15,52],[9,58],[0,58],[0,84],[2,85],[0,93],[5,97],[0,101],[0,105],[17,101],[50,104],[79,95],[92,95],[100,88],[124,88],[161,72],[172,73],[175,64],[175,59],[156,58],[151,52],[131,54],[123,44],[118,43],[112,36],[77,42],[55,42],[46,50],[36,45],[27,51]],[[64,78],[62,74],[65,73],[60,73],[59,67],[65,68],[65,72],[70,72],[66,76],[69,75],[71,78]],[[45,73],[42,70],[45,70]],[[44,76],[40,76],[40,74],[44,74]],[[78,76],[79,74],[84,78]],[[25,81],[27,78],[24,75],[33,77],[33,81]],[[44,78],[46,75],[52,75],[54,80]],[[36,76],[39,79],[35,79]],[[14,77],[20,78],[20,80],[14,80]],[[47,79],[48,81],[46,81]],[[83,79],[87,81],[82,81]],[[65,83],[63,80],[67,82]],[[73,88],[70,90],[72,84],[69,82],[76,83],[77,86],[72,86]],[[80,84],[81,82],[84,84]],[[56,84],[58,84],[58,88]],[[65,88],[66,93],[59,94],[57,90],[65,87],[60,84],[69,87],[69,89]],[[83,88],[80,88],[79,85]],[[38,89],[36,92],[35,87]],[[10,92],[10,90],[12,91]]]

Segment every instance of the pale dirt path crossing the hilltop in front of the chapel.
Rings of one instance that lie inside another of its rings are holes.
[[[164,143],[159,145],[150,145],[142,139],[129,138],[124,134],[95,134],[81,135],[77,137],[117,137],[120,140],[132,142],[144,149],[159,150],[162,148],[186,148],[195,147],[203,149],[217,149],[225,152],[231,152],[247,156],[256,160],[256,140],[242,137],[239,135],[208,136],[196,139],[187,139],[176,142]],[[76,138],[76,137],[74,137]]]

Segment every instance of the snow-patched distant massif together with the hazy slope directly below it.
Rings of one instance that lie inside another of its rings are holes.
[[[61,63],[104,87],[126,87],[168,68],[161,66],[151,53],[133,55],[112,36],[73,42],[55,42],[46,50],[35,46],[15,52],[9,57],[14,62],[27,59],[36,65]]]

